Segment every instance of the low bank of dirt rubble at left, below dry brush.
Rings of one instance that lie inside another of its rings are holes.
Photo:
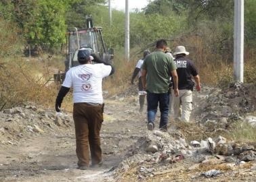
[[[0,145],[17,144],[30,135],[43,133],[61,134],[72,129],[72,115],[61,113],[56,116],[53,109],[23,104],[0,112]]]

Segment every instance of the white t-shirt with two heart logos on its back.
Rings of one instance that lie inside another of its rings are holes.
[[[108,76],[111,71],[110,65],[85,64],[72,67],[66,72],[66,78],[62,86],[73,88],[73,101],[103,103],[102,78]]]

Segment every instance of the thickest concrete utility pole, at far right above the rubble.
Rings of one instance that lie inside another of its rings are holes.
[[[244,82],[244,0],[234,0],[234,81]]]

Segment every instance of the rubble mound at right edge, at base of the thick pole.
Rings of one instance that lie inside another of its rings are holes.
[[[232,84],[228,90],[212,89],[206,95],[198,95],[199,99],[206,100],[200,105],[196,121],[214,129],[226,129],[230,123],[238,120],[247,120],[256,125],[256,118],[247,117],[253,113],[256,105],[256,85],[241,83]],[[199,102],[202,103],[202,102]]]

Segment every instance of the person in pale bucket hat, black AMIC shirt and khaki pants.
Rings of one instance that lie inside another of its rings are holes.
[[[196,82],[196,90],[200,91],[200,78],[194,63],[186,57],[189,53],[185,47],[178,46],[173,53],[175,56],[175,64],[177,66],[177,75],[179,77],[179,96],[173,96],[173,112],[174,119],[178,121],[189,122],[192,111],[192,90],[194,82]],[[172,95],[175,93],[172,92]]]

